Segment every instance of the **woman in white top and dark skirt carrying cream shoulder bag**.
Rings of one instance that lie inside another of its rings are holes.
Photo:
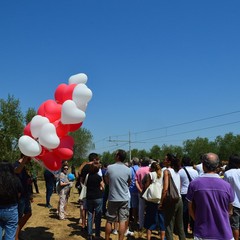
[[[153,162],[150,167],[150,172],[146,175],[146,182],[143,189],[146,190],[152,182],[163,185],[163,174],[158,163]],[[159,202],[146,201],[146,215],[144,220],[144,227],[147,229],[147,240],[151,240],[153,230],[160,230],[160,239],[165,238],[164,213],[162,209],[158,208]]]

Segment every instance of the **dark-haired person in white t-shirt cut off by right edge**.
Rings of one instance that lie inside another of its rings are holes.
[[[224,180],[230,183],[234,191],[233,214],[230,216],[230,223],[235,240],[239,239],[240,227],[240,157],[232,155],[224,173]]]

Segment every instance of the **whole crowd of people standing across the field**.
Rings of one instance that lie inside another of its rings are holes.
[[[225,166],[215,153],[202,155],[198,165],[188,156],[179,159],[171,153],[162,161],[134,157],[129,163],[126,152],[119,149],[114,157],[113,164],[102,165],[99,155],[91,153],[77,172],[69,173],[68,162],[63,162],[60,171],[45,170],[46,207],[52,208],[50,199],[56,191],[58,218],[65,220],[72,187],[80,195],[85,185],[86,196],[78,202],[79,224],[88,240],[102,239],[102,218],[106,219],[106,240],[111,234],[122,240],[136,232],[141,237],[146,233],[150,240],[152,231],[161,240],[172,240],[174,235],[180,240],[239,239],[240,156],[230,156]],[[0,239],[20,239],[32,215],[33,175],[26,168],[30,162],[23,154],[14,164],[0,162]],[[179,196],[174,203],[167,197],[172,181]],[[153,182],[161,186],[157,202],[143,198]]]

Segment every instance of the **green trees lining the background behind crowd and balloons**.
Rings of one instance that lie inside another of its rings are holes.
[[[2,160],[10,162],[19,158],[18,139],[23,135],[24,127],[36,115],[33,108],[29,108],[26,114],[22,113],[20,101],[14,96],[8,96],[7,100],[0,99],[0,156]],[[70,161],[71,165],[80,166],[86,160],[87,154],[94,149],[93,136],[91,132],[83,127],[70,133],[74,138],[74,156]],[[232,154],[240,154],[240,135],[233,133],[218,136],[214,141],[208,138],[196,138],[186,140],[183,146],[175,145],[154,145],[149,151],[131,150],[132,157],[150,157],[152,159],[164,159],[167,153],[173,153],[179,157],[188,155],[194,163],[198,163],[200,156],[206,152],[215,152],[221,160],[228,160]],[[129,152],[128,155],[130,156]],[[102,153],[101,160],[103,164],[109,164],[114,161],[113,152]],[[129,159],[130,160],[130,159]]]

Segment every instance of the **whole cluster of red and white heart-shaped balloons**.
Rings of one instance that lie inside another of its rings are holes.
[[[74,140],[68,135],[82,126],[92,91],[86,86],[84,73],[73,75],[68,84],[60,84],[54,93],[55,100],[41,104],[24,135],[18,140],[20,151],[34,157],[47,169],[56,171],[63,160],[73,156]]]

